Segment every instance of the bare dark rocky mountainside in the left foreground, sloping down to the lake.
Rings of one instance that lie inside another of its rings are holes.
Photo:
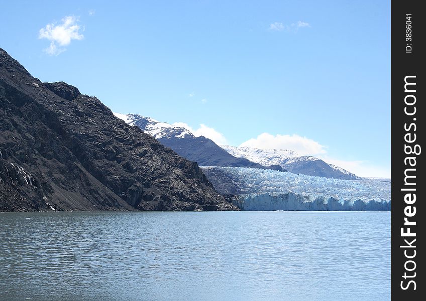
[[[0,211],[235,209],[198,165],[0,49]]]

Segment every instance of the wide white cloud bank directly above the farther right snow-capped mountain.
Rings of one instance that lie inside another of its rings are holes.
[[[299,136],[292,135],[272,135],[270,133],[262,133],[256,138],[251,138],[240,146],[249,146],[261,149],[290,149],[300,155],[318,155],[325,154],[325,146],[318,142]]]

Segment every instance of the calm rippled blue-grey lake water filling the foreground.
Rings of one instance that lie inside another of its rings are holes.
[[[0,300],[388,300],[390,212],[0,213]]]

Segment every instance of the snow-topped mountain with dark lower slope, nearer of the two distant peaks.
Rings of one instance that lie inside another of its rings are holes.
[[[184,127],[159,122],[150,117],[138,114],[118,114],[127,123],[141,128],[151,134],[163,145],[172,148],[177,154],[200,166],[249,167],[286,171],[279,165],[263,166],[245,158],[237,158],[229,154],[211,139],[204,136],[195,137]]]

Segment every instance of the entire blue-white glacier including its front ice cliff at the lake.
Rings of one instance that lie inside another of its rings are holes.
[[[234,167],[202,167],[242,210],[390,211],[390,179],[333,178]],[[230,190],[234,187],[235,190]]]

